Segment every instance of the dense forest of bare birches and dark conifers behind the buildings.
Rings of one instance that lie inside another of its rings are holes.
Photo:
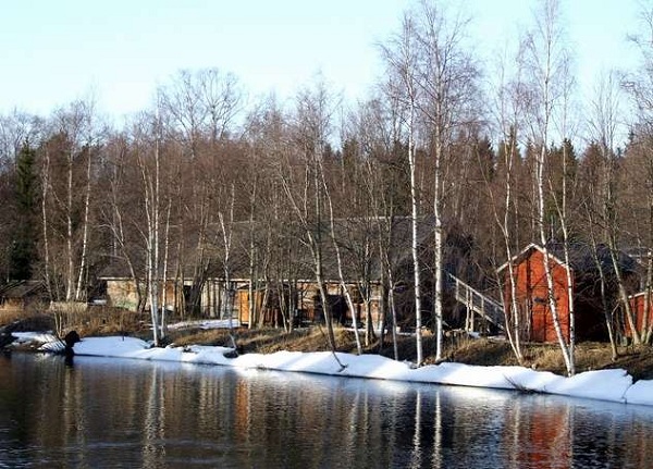
[[[251,277],[288,279],[303,246],[322,283],[322,246],[338,264],[352,259],[337,221],[356,220],[348,231],[370,233],[357,250],[382,258],[393,247],[379,221],[407,219],[418,335],[419,275],[434,276],[441,318],[451,249],[495,285],[496,268],[530,243],[638,252],[650,289],[653,11],[632,27],[640,69],[607,72],[581,98],[560,5],[537,7],[515,52],[489,61],[464,14],[416,2],[379,45],[385,71],[356,103],[319,77],[289,101],[251,102],[214,67],[180,71],[121,128],[84,100],[0,115],[0,283],[39,280],[53,300],[86,301],[120,259],[147,280],[156,310],[167,266],[198,288],[211,267],[229,279],[236,258]]]

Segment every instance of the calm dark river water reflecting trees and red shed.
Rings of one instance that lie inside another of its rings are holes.
[[[650,468],[652,435],[643,406],[0,356],[0,468]]]

